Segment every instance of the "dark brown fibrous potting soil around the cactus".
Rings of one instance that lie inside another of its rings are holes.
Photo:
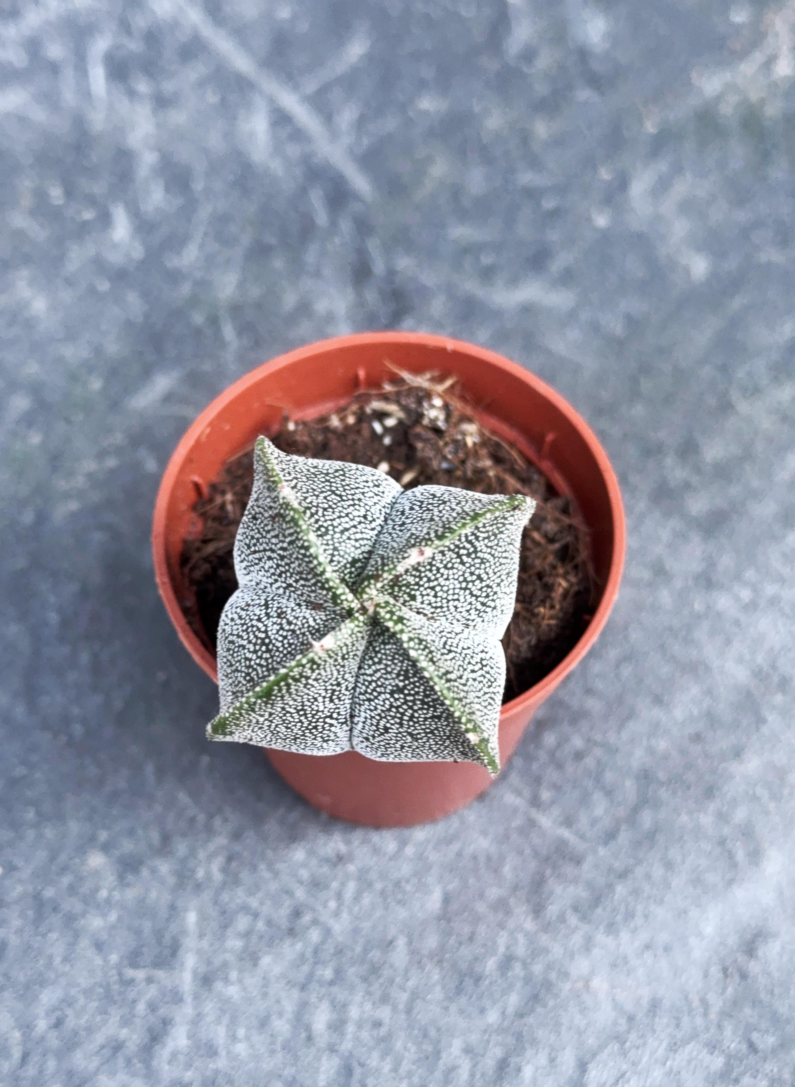
[[[270,437],[286,453],[380,468],[406,489],[444,484],[530,495],[538,505],[522,535],[516,607],[503,638],[503,701],[542,679],[579,639],[594,590],[586,530],[539,468],[481,427],[454,379],[400,374],[330,415],[305,423],[285,417]],[[253,446],[231,458],[198,498],[199,528],[182,547],[186,617],[213,648],[222,610],[237,588],[232,547],[252,478]]]

